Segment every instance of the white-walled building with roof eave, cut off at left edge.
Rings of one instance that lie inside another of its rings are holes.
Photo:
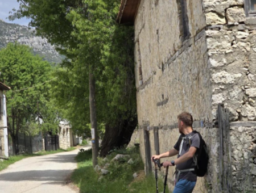
[[[10,87],[0,82],[0,156],[8,157],[8,132],[6,99],[3,91],[10,90]]]

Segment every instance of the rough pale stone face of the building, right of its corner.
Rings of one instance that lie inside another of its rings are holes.
[[[255,19],[245,17],[243,3],[204,0],[213,119],[217,104],[224,103],[230,121],[256,120],[256,26],[250,24]],[[230,129],[233,191],[255,192],[255,127]]]

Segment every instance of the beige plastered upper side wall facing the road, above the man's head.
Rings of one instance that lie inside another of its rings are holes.
[[[212,120],[205,20],[200,1],[188,1],[189,31],[180,36],[177,1],[142,1],[135,20],[139,125],[172,125],[184,110]]]

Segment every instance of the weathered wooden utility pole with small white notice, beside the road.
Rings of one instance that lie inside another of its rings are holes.
[[[98,163],[98,131],[96,116],[96,95],[95,95],[95,79],[93,73],[89,72],[89,102],[90,102],[90,125],[92,127],[92,161],[93,167]]]

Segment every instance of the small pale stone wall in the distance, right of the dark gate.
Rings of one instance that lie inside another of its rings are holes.
[[[59,140],[60,140],[60,148],[68,149],[71,146],[70,142],[70,127],[66,124],[59,124]]]

